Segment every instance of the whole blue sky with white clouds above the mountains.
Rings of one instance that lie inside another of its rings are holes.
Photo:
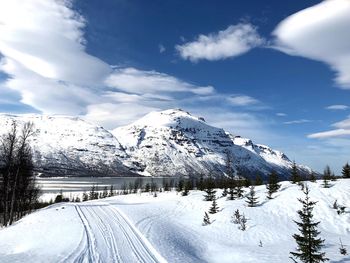
[[[113,129],[182,108],[339,173],[349,13],[349,0],[0,0],[0,112]]]

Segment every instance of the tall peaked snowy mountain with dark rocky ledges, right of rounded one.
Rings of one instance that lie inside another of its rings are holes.
[[[285,154],[210,126],[181,109],[151,112],[112,133],[145,175],[222,175],[227,156],[236,172],[250,176],[274,170],[288,177],[292,166]]]

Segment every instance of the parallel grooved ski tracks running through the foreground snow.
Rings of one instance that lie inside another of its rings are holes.
[[[110,205],[75,205],[84,226],[82,240],[61,262],[166,262],[135,229]]]

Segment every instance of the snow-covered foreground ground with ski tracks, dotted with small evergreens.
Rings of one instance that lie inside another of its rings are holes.
[[[319,201],[315,219],[330,262],[350,262],[339,253],[339,238],[350,250],[350,180],[332,183],[328,189],[308,183],[311,199]],[[202,220],[211,202],[200,191],[52,205],[0,230],[0,262],[291,262],[303,193],[288,182],[273,200],[266,200],[264,186],[256,190],[260,206],[254,208],[244,199],[219,198],[222,210],[210,215],[208,226]],[[332,208],[335,200],[347,206],[345,214]],[[248,218],[246,231],[231,222],[236,209]]]

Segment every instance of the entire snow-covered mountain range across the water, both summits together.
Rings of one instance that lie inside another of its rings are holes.
[[[34,124],[35,167],[46,175],[219,176],[231,156],[236,172],[255,176],[275,170],[288,177],[292,165],[283,153],[180,109],[151,112],[111,132],[76,117],[1,114],[0,134],[13,121]]]

